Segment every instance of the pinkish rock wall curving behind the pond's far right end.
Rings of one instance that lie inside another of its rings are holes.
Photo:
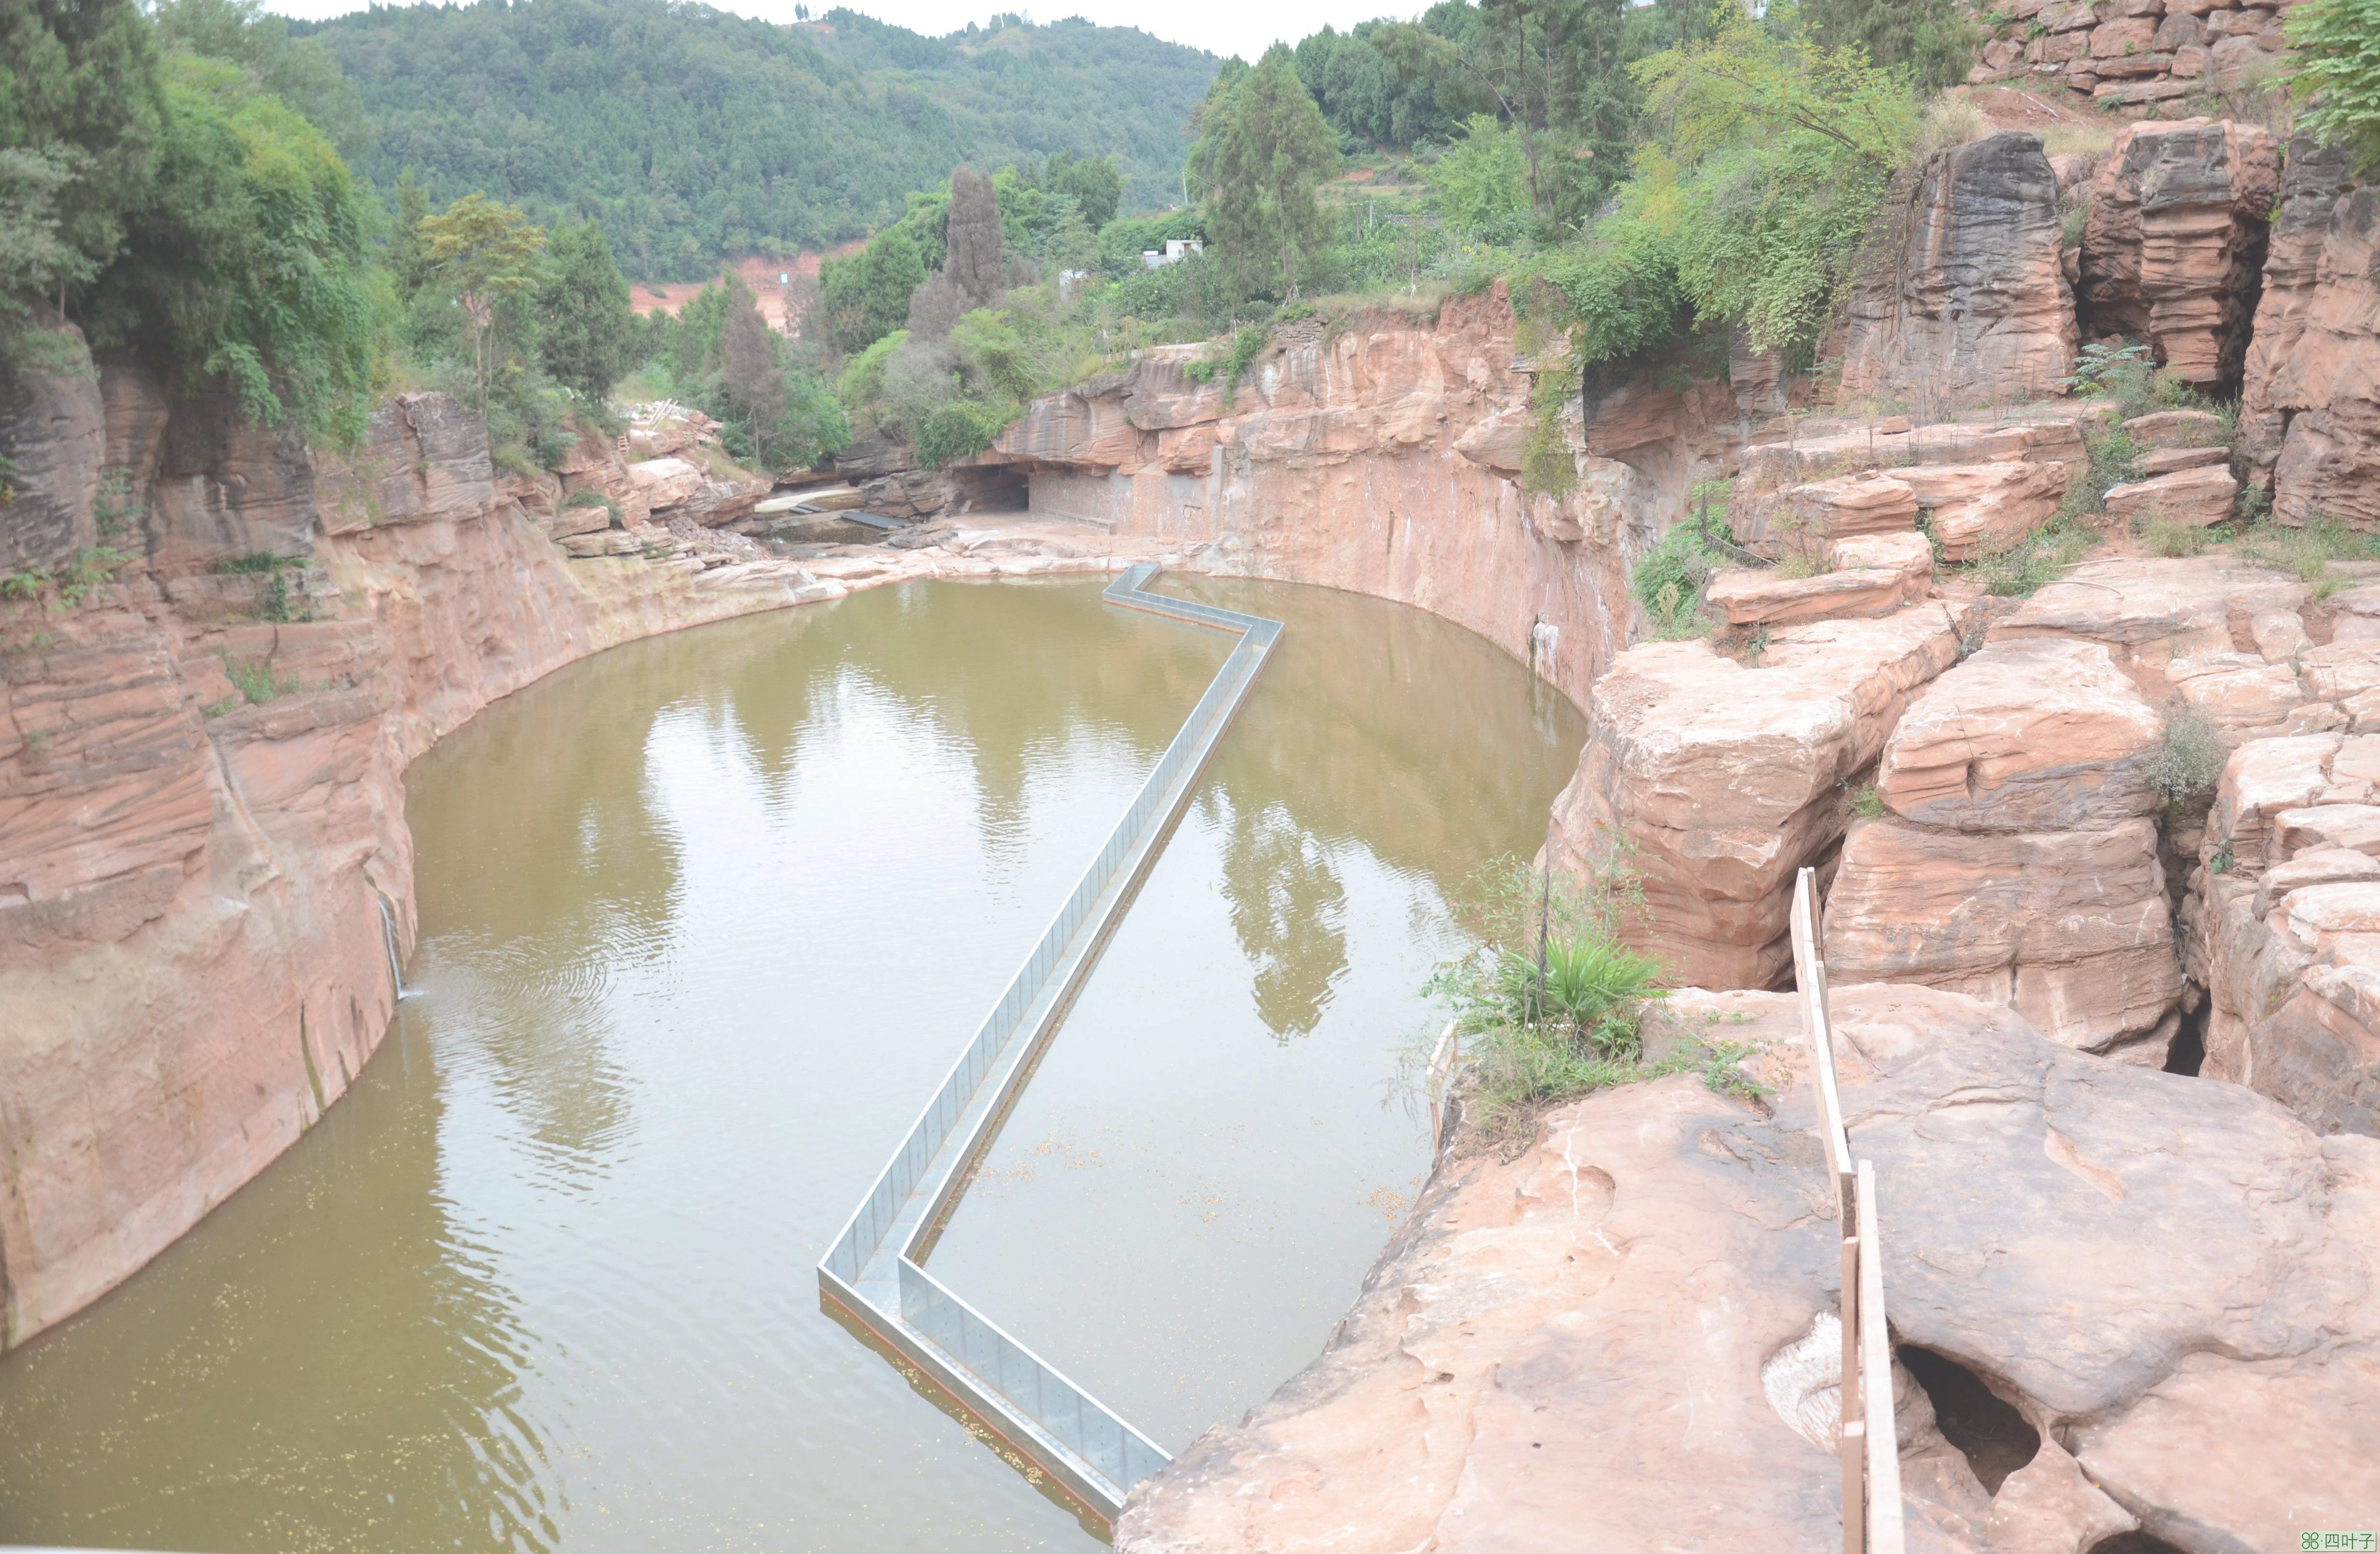
[[[1528,374],[1504,288],[1435,321],[1319,324],[1230,386],[1197,347],[1050,395],[988,459],[1019,469],[1038,516],[1152,538],[1202,571],[1349,588],[1447,616],[1585,704],[1626,645],[1628,564],[1685,512],[1704,452],[1740,438],[1716,383],[1623,388],[1568,436],[1564,497],[1528,495]]]

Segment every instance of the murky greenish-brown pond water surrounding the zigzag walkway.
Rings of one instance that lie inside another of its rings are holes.
[[[1323,1345],[1426,1171],[1447,895],[1583,735],[1285,585],[933,1266],[1161,1447]],[[1228,640],[914,583],[619,647],[409,778],[419,995],[288,1157],[0,1361],[0,1542],[1088,1549],[819,1311],[821,1249]]]

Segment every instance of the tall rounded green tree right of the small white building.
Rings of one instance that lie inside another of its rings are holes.
[[[1316,188],[1338,176],[1338,136],[1283,45],[1219,90],[1190,152],[1192,176],[1209,188],[1216,262],[1238,295],[1295,300],[1299,274],[1333,238]]]

